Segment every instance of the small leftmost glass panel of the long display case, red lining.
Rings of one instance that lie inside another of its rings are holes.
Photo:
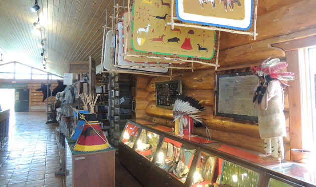
[[[125,143],[130,148],[133,148],[134,142],[138,136],[139,127],[131,123],[127,123],[121,136],[121,142]]]

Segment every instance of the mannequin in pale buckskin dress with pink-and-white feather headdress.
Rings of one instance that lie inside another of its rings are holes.
[[[259,157],[264,160],[284,159],[283,137],[286,136],[286,122],[283,88],[288,85],[280,80],[294,80],[293,73],[278,72],[285,67],[286,62],[272,59],[252,68],[260,80],[253,102],[258,104],[259,133],[261,139],[264,139],[265,151]]]

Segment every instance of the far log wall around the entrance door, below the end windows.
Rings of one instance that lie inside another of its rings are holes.
[[[12,81],[16,81],[17,83],[27,83],[29,89],[29,111],[30,112],[38,112],[38,111],[46,111],[46,100],[43,100],[42,91],[36,91],[36,89],[41,88],[41,83],[45,83],[47,85],[47,80],[11,80],[11,79],[1,79],[0,83],[7,82],[12,83]],[[50,82],[50,81],[49,81]],[[52,80],[53,89],[58,85],[56,80]],[[48,101],[50,102],[50,98],[48,97]],[[53,103],[55,102],[55,97],[53,97]]]

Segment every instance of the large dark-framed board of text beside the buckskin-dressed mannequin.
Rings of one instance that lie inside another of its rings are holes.
[[[252,103],[258,83],[251,71],[217,74],[215,115],[258,121],[258,110]]]

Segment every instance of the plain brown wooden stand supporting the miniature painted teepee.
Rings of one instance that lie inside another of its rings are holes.
[[[74,143],[67,141],[68,158],[71,154],[71,159],[67,162],[72,162],[72,170],[69,175],[72,175],[72,186],[108,186],[115,187],[115,148],[109,148],[103,151],[95,152],[78,152],[73,151]],[[67,163],[69,165],[69,163]],[[68,168],[70,169],[70,168]],[[72,174],[71,174],[72,173]]]

